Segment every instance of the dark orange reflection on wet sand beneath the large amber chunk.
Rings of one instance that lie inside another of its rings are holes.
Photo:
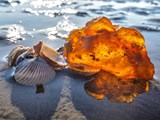
[[[84,88],[95,99],[107,97],[111,102],[131,103],[138,94],[148,92],[150,84],[146,80],[120,79],[101,71]]]

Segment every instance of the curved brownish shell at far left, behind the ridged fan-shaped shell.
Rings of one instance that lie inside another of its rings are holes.
[[[24,47],[22,45],[18,45],[13,48],[7,56],[8,66],[15,66],[17,57],[20,56],[22,53],[28,51],[29,49],[29,47]]]

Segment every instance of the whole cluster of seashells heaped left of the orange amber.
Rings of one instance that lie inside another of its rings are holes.
[[[55,70],[66,66],[65,59],[40,41],[29,48],[16,46],[8,55],[8,66],[14,66],[14,78],[23,85],[45,84],[55,78]]]

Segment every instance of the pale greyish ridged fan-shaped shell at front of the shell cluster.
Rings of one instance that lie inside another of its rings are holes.
[[[35,86],[55,78],[55,70],[40,57],[25,59],[16,66],[14,78],[18,83]]]

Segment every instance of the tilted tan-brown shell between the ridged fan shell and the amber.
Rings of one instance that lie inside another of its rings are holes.
[[[44,58],[49,64],[53,65],[55,70],[61,70],[67,65],[62,55],[45,45],[42,41],[33,46],[33,49],[38,56]]]

